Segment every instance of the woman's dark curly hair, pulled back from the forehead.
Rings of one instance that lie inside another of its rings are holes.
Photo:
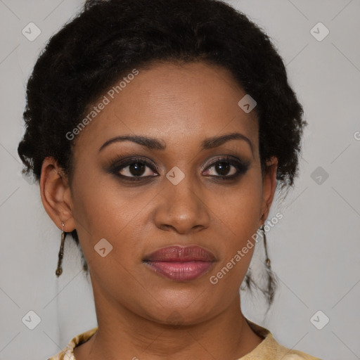
[[[53,157],[72,181],[72,131],[91,105],[132,69],[159,62],[203,61],[231,72],[257,101],[259,154],[278,158],[281,190],[293,186],[307,124],[288,84],[285,65],[269,36],[243,13],[219,0],[87,0],[49,39],[27,82],[25,135],[18,154],[39,181]],[[77,231],[71,233],[79,246]],[[87,264],[82,255],[86,274]],[[255,285],[247,274],[245,282]],[[263,293],[271,304],[275,281]]]

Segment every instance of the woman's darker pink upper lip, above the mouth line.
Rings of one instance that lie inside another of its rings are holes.
[[[198,245],[172,245],[161,248],[143,258],[145,262],[214,262],[214,254]]]

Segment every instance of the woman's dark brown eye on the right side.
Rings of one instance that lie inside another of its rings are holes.
[[[232,167],[232,169],[231,169]],[[217,159],[215,162],[212,162],[210,166],[207,167],[207,175],[214,176],[221,179],[234,179],[241,174],[245,174],[248,171],[248,163],[243,163],[240,160],[236,160],[235,158],[221,158]],[[214,171],[209,171],[209,169],[214,168]],[[220,174],[217,176],[215,173]]]

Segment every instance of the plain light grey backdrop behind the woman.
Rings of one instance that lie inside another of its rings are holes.
[[[267,233],[279,278],[274,305],[265,316],[261,294],[245,291],[243,313],[286,347],[321,359],[360,359],[360,2],[228,2],[274,41],[309,122],[300,177],[269,215],[283,214]],[[55,276],[60,230],[42,206],[39,186],[22,176],[17,153],[27,78],[49,37],[82,4],[0,1],[3,360],[47,359],[96,326],[91,283],[72,241],[65,241],[63,275]],[[33,41],[23,35],[29,23],[41,31]],[[250,264],[254,269],[262,269],[263,252],[259,243]],[[25,325],[29,316],[39,322],[33,330]]]

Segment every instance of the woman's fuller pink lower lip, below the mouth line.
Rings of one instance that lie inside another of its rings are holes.
[[[148,268],[174,281],[190,281],[205,274],[213,262],[146,262]]]

